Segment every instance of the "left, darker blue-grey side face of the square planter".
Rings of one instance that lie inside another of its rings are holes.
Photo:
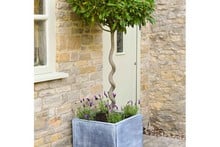
[[[115,147],[113,125],[73,120],[73,147]]]

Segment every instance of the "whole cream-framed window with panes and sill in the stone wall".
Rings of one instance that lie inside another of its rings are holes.
[[[34,73],[35,82],[67,77],[55,72],[55,0],[34,0]]]

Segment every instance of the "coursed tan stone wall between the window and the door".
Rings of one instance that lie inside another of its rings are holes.
[[[34,85],[35,147],[72,147],[72,110],[102,92],[102,31],[83,26],[65,0],[56,2],[56,69],[68,78]]]

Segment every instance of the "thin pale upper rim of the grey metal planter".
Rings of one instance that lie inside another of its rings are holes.
[[[99,124],[105,124],[105,125],[112,125],[112,126],[115,126],[115,125],[119,125],[121,123],[123,123],[124,121],[127,121],[127,120],[130,120],[130,119],[133,119],[135,117],[142,117],[142,114],[136,114],[136,115],[133,115],[131,117],[128,117],[126,119],[123,119],[117,123],[109,123],[109,122],[102,122],[102,121],[95,121],[95,120],[86,120],[86,119],[80,119],[80,118],[73,118],[73,121],[83,121],[83,122],[90,122],[90,123],[99,123]]]

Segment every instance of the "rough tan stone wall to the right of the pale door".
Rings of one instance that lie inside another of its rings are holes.
[[[185,134],[185,1],[156,3],[156,24],[141,34],[142,112],[149,129]]]

